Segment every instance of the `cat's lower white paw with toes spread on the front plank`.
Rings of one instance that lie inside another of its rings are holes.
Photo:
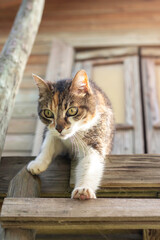
[[[91,198],[96,198],[96,194],[90,187],[77,187],[73,190],[71,198],[87,200]]]

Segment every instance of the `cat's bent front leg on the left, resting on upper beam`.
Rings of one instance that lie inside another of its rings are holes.
[[[62,146],[58,139],[55,139],[49,131],[46,134],[45,140],[42,144],[41,152],[35,160],[31,161],[27,170],[33,175],[38,175],[44,172],[52,161],[62,150]]]

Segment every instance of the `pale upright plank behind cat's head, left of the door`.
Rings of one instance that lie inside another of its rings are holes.
[[[71,46],[59,40],[54,40],[48,61],[46,79],[54,82],[59,79],[71,77],[73,57],[74,50]],[[45,125],[38,120],[32,155],[39,154],[44,128]]]

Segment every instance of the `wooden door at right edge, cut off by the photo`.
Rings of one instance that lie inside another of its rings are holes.
[[[146,152],[160,153],[160,51],[142,48]]]

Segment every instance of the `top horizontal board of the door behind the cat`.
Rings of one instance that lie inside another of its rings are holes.
[[[87,60],[93,58],[112,58],[118,56],[128,56],[128,55],[137,55],[137,47],[127,47],[127,48],[104,48],[104,49],[95,49],[95,50],[85,50],[76,53],[75,59]]]

